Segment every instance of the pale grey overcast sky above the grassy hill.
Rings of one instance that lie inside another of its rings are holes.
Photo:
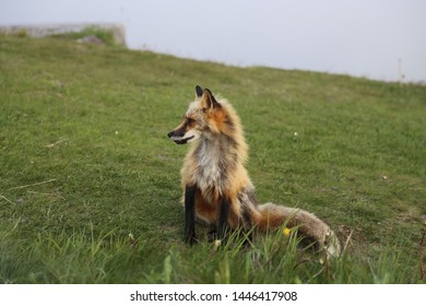
[[[426,81],[426,0],[0,0],[0,24],[114,22],[130,48]]]

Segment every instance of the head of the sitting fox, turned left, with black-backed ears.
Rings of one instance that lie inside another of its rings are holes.
[[[220,133],[225,120],[223,106],[208,89],[196,86],[196,99],[189,105],[180,122],[167,136],[177,144],[185,144],[201,138]]]

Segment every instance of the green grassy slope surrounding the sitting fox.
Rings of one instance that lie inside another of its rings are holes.
[[[182,244],[166,134],[196,84],[239,113],[259,200],[315,212],[342,258]],[[0,282],[424,283],[425,118],[424,86],[0,36]]]

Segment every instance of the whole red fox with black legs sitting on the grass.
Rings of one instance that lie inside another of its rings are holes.
[[[227,229],[275,229],[286,223],[315,239],[330,256],[340,243],[316,215],[273,203],[259,204],[245,164],[248,146],[240,119],[226,99],[196,86],[196,99],[184,121],[167,134],[177,144],[191,143],[181,168],[185,205],[185,240],[196,242],[196,221],[216,226],[218,239]]]

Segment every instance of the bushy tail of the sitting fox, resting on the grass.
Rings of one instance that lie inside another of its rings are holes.
[[[340,242],[333,231],[315,214],[287,207],[265,203],[259,205],[261,219],[260,229],[279,228],[286,223],[286,227],[298,226],[298,233],[315,239],[328,256],[338,257],[341,254]]]

